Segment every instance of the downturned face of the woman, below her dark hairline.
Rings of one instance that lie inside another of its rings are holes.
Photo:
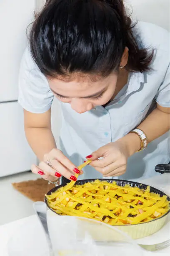
[[[110,101],[117,84],[117,73],[104,78],[77,74],[71,81],[48,78],[48,82],[58,100],[69,103],[77,113],[85,113]]]

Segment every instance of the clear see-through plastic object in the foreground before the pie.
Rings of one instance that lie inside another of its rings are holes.
[[[56,256],[138,255],[138,244],[110,225],[47,211],[47,224]],[[126,254],[125,254],[126,253]]]

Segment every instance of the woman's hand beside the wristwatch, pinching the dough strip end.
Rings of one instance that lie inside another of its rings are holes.
[[[140,149],[140,139],[138,136],[135,134],[128,134],[127,136],[125,136],[126,138],[123,137],[118,141],[102,146],[90,156],[86,157],[87,159],[92,160],[90,165],[98,172],[102,173],[103,177],[120,176],[124,174],[126,172],[128,158],[134,154],[135,151]],[[135,138],[137,150],[130,147],[133,138]],[[130,141],[131,139],[132,141]]]

